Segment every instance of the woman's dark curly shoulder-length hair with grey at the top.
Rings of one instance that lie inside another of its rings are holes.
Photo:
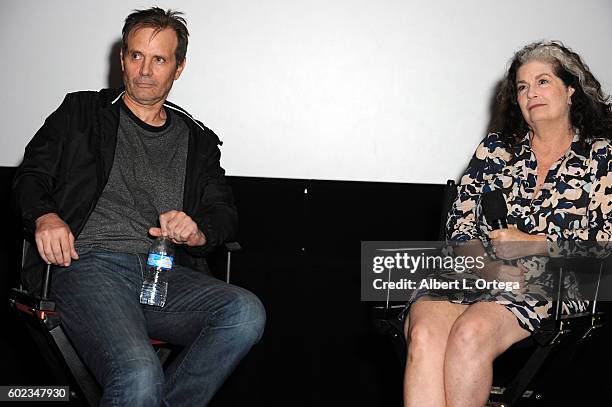
[[[516,74],[527,62],[549,62],[565,86],[575,89],[570,108],[571,125],[578,130],[581,142],[589,145],[594,138],[612,137],[612,105],[610,96],[601,90],[601,84],[580,55],[560,41],[534,42],[522,48],[510,63],[501,82],[492,131],[500,134],[510,146],[523,138],[529,125],[523,118],[517,101]]]

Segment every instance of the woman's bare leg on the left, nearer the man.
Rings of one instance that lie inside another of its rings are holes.
[[[455,320],[467,305],[420,300],[404,324],[408,360],[404,374],[406,407],[444,407],[444,354]]]

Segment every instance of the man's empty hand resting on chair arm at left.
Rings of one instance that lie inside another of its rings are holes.
[[[74,235],[57,213],[36,219],[34,238],[38,253],[47,264],[68,267],[73,259],[79,258],[74,249]]]

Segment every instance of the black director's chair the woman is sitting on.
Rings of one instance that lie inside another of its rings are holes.
[[[445,236],[446,218],[456,194],[455,182],[447,181],[441,211],[440,236]],[[587,269],[596,276],[591,292],[588,293],[588,298],[592,301],[586,312],[563,315],[561,311],[564,292],[561,282],[564,281],[567,269],[574,269],[576,264],[579,264],[579,268]],[[536,333],[506,350],[504,355],[522,350],[528,353],[528,357],[507,385],[496,385],[496,375],[494,375],[494,386],[491,388],[488,406],[513,407],[522,402],[538,403],[547,399],[546,391],[544,391],[546,389],[541,386],[544,383],[544,376],[541,372],[545,364],[552,366],[548,371],[563,372],[563,368],[569,365],[577,352],[604,325],[604,314],[598,310],[598,297],[602,290],[601,282],[608,264],[609,262],[594,258],[575,259],[570,261],[569,265],[567,261],[551,262],[553,269],[551,272],[557,274],[556,278],[559,282],[552,302],[553,315],[550,319],[542,321],[542,326]],[[388,278],[390,280],[390,275]],[[394,353],[399,358],[403,374],[407,343],[404,336],[404,321],[400,319],[400,313],[405,308],[405,302],[394,302],[390,298],[390,291],[387,290],[386,301],[377,303],[372,308],[373,320],[376,330],[389,338]]]

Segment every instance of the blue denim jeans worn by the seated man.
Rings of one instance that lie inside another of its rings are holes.
[[[255,295],[186,267],[170,272],[163,308],[141,305],[145,257],[89,251],[55,267],[62,327],[102,385],[101,406],[204,406],[259,341]],[[183,346],[165,371],[149,338]]]

